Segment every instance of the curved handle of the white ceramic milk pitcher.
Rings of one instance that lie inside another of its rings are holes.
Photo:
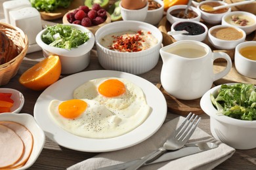
[[[213,52],[213,61],[218,58],[226,59],[227,65],[223,71],[213,75],[213,82],[215,80],[219,80],[220,78],[223,78],[223,76],[226,76],[232,68],[232,61],[230,59],[230,56],[228,56],[228,54],[224,52]]]

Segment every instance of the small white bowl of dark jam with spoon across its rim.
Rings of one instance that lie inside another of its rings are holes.
[[[188,33],[173,35],[173,38],[176,41],[181,40],[195,40],[195,41],[203,41],[208,32],[208,28],[202,22],[194,21],[194,20],[186,20],[175,22],[171,25],[171,31],[182,31],[186,30]]]

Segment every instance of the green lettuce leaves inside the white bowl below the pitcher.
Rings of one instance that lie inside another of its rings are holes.
[[[256,120],[256,88],[253,84],[222,84],[217,96],[210,95],[218,114],[239,120]]]

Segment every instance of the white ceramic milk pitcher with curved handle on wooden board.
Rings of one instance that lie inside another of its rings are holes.
[[[232,61],[224,52],[212,52],[203,42],[177,41],[160,49],[163,67],[161,84],[164,90],[177,99],[198,99],[207,92],[213,82],[227,75]],[[226,59],[226,68],[213,73],[213,61]]]

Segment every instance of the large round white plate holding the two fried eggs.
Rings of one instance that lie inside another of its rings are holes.
[[[54,124],[48,114],[49,103],[53,99],[62,101],[72,99],[75,88],[88,80],[106,76],[127,78],[127,80],[131,80],[131,82],[142,88],[146,95],[146,101],[152,108],[150,116],[143,124],[125,135],[110,139],[79,137]],[[166,114],[167,103],[165,97],[154,84],[139,76],[108,70],[85,71],[58,80],[41,93],[34,108],[35,120],[49,139],[60,144],[60,146],[84,152],[108,152],[141,143],[158,131],[165,120]]]

